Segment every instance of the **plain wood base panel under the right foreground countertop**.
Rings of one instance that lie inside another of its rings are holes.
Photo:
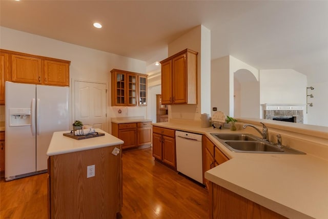
[[[258,205],[247,198],[244,198],[228,189],[224,189],[215,183],[210,182],[210,219],[216,218],[265,218],[265,219],[286,219],[268,208]]]

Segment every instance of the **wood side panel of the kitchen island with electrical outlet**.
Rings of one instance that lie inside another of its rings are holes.
[[[83,141],[83,140],[82,140]],[[50,156],[49,218],[116,218],[122,207],[120,146]],[[87,178],[87,166],[95,176]]]

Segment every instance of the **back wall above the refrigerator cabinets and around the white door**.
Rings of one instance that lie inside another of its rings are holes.
[[[39,35],[0,27],[0,38],[1,49],[71,61],[70,82],[72,78],[91,82],[107,82],[109,89],[108,108],[111,105],[111,69],[116,68],[146,73],[146,62],[144,61],[81,47]],[[70,90],[70,99],[72,99],[71,97],[72,91]],[[72,109],[71,104],[70,102],[70,110]],[[115,115],[112,115],[113,110],[108,110],[108,112],[108,118],[115,117]],[[146,107],[135,107],[127,110],[128,116],[136,114],[146,115]]]

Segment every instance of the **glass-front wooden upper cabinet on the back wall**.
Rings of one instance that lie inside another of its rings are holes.
[[[111,70],[112,106],[146,106],[147,76],[145,74]]]

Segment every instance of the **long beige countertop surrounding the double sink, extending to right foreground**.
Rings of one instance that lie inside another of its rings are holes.
[[[205,173],[211,182],[289,218],[328,218],[327,160],[307,151],[304,151],[307,154],[233,152],[211,135],[232,131],[200,128],[200,123],[153,125],[204,134],[226,154],[230,158],[228,162]]]

